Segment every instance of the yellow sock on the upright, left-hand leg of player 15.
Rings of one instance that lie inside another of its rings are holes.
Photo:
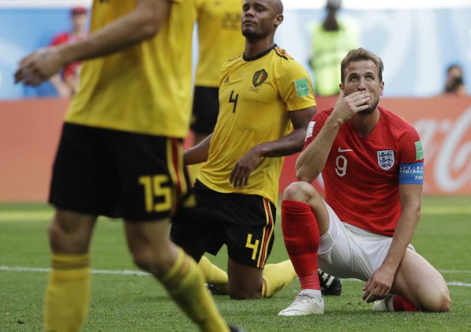
[[[44,301],[46,332],[76,332],[90,302],[90,255],[52,254]]]

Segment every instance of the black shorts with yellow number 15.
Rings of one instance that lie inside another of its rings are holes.
[[[49,202],[128,221],[170,217],[187,193],[182,141],[65,123]]]

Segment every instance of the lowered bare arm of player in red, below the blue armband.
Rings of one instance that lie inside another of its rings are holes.
[[[399,184],[401,215],[397,221],[391,247],[383,264],[369,277],[363,290],[363,300],[370,303],[383,299],[391,290],[394,274],[406,253],[420,218],[423,184]]]

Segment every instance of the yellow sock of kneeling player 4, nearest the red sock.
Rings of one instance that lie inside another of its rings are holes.
[[[297,276],[289,259],[278,264],[266,264],[263,269],[262,297],[272,297]]]

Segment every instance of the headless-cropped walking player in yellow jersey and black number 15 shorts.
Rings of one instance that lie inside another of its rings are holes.
[[[190,119],[194,17],[191,0],[95,0],[89,38],[20,63],[16,81],[37,85],[89,60],[53,167],[46,331],[79,331],[85,319],[98,215],[124,219],[136,265],[161,281],[201,331],[229,331],[200,269],[168,238],[188,188],[181,141]]]

